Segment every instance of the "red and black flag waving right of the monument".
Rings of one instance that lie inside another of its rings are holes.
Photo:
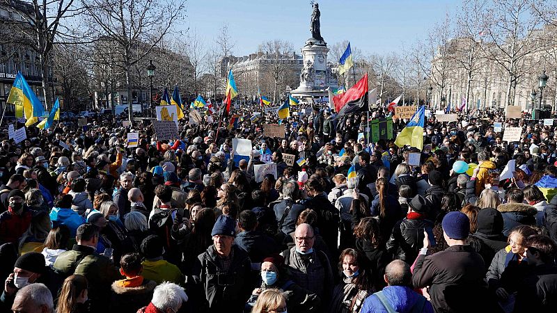
[[[345,93],[333,97],[337,118],[368,108],[368,73]]]

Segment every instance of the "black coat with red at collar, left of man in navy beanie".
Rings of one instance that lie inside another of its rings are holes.
[[[395,259],[402,259],[408,264],[414,263],[418,252],[423,247],[423,232],[433,228],[433,222],[425,216],[408,214],[393,227],[391,238],[386,243],[386,250],[395,255]]]

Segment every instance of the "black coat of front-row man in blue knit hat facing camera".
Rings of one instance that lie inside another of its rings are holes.
[[[198,287],[205,291],[209,312],[242,312],[253,290],[250,281],[251,261],[247,252],[232,246],[230,253],[232,259],[228,272],[220,267],[214,246],[199,255],[194,264],[192,276]]]

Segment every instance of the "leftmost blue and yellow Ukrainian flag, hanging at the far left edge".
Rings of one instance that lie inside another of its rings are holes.
[[[45,108],[42,107],[42,103],[40,103],[37,95],[33,93],[31,86],[21,72],[17,72],[7,102],[15,105],[15,116],[17,118],[22,118],[23,113],[25,113],[27,119],[25,126],[35,124],[38,118],[45,115]]]

